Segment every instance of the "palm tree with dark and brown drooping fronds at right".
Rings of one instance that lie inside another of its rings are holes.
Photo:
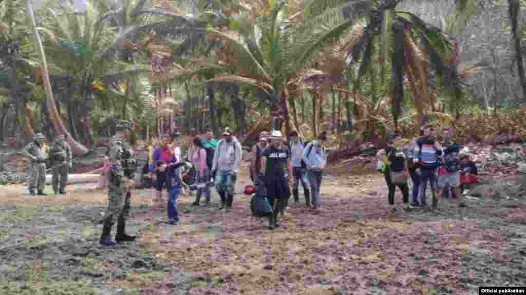
[[[429,88],[463,99],[462,82],[452,61],[452,44],[440,29],[426,24],[418,16],[396,10],[400,0],[311,1],[307,7],[311,17],[331,17],[342,26],[365,22],[361,34],[347,44],[346,63],[356,68],[355,100],[360,97],[361,81],[370,75],[371,58],[378,54],[381,82],[387,82],[390,65],[391,112],[397,124],[403,102],[403,81],[407,78],[412,104],[420,120],[425,104],[434,106]],[[327,7],[320,9],[320,7]],[[340,36],[347,30],[340,30]],[[337,34],[338,35],[338,34]]]

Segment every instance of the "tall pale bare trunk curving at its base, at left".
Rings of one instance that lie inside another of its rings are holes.
[[[26,0],[26,15],[29,18],[31,28],[33,30],[35,49],[37,50],[37,54],[39,55],[39,58],[41,59],[41,62],[42,62],[42,65],[41,65],[42,80],[44,84],[44,89],[46,90],[47,107],[48,107],[49,114],[50,114],[50,120],[53,122],[55,130],[64,132],[66,134],[66,139],[69,143],[69,146],[71,146],[72,148],[73,155],[75,156],[85,155],[88,153],[88,149],[82,144],[76,142],[72,138],[69,132],[67,132],[67,129],[64,126],[64,123],[62,122],[62,118],[60,118],[57,113],[55,99],[53,98],[53,92],[51,90],[51,85],[49,83],[49,73],[47,70],[46,56],[44,54],[42,40],[40,38],[40,35],[38,34],[38,31],[36,30],[35,16],[33,15],[33,7],[32,7],[31,0]],[[88,117],[89,117],[89,114],[88,114]]]

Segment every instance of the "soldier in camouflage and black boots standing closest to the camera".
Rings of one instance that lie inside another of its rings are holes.
[[[136,168],[133,151],[125,141],[126,130],[131,130],[127,122],[117,124],[115,136],[108,145],[108,156],[112,168],[108,173],[108,207],[104,220],[101,222],[104,227],[99,239],[99,244],[103,246],[115,245],[115,241],[110,237],[115,220],[117,220],[117,234],[115,235],[117,243],[135,240],[135,236],[125,234],[125,218],[129,214],[130,189],[133,188]]]

